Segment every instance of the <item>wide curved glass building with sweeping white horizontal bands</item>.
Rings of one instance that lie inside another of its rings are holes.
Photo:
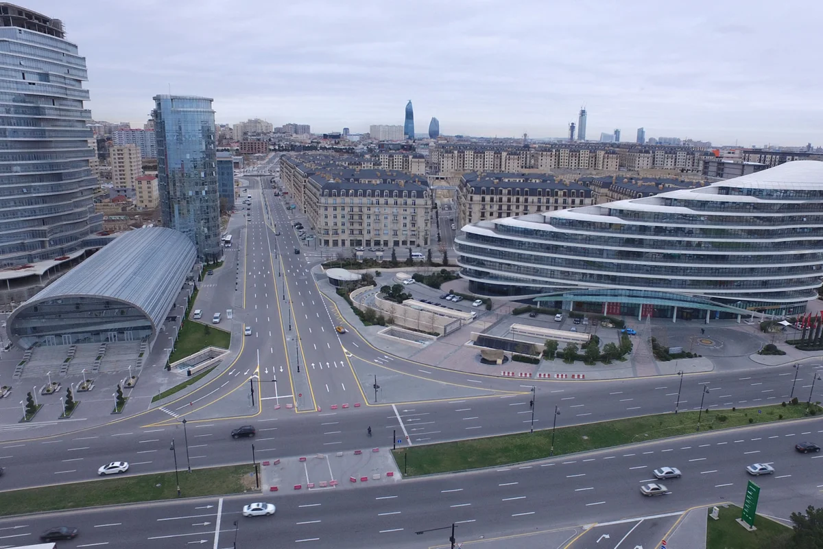
[[[823,162],[481,221],[455,249],[482,295],[638,318],[799,314],[823,277]]]

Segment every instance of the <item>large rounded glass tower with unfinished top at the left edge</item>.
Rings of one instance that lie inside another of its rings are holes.
[[[0,72],[0,268],[76,257],[103,229],[86,58],[60,21],[0,3]]]

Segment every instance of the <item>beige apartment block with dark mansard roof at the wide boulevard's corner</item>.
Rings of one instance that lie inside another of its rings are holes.
[[[281,180],[307,216],[318,245],[430,245],[432,198],[425,178],[394,170],[353,170],[326,155],[286,155],[280,166]]]

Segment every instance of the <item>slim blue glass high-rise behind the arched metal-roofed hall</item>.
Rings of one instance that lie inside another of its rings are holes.
[[[163,225],[188,235],[198,258],[221,257],[212,99],[155,95],[157,186]]]

